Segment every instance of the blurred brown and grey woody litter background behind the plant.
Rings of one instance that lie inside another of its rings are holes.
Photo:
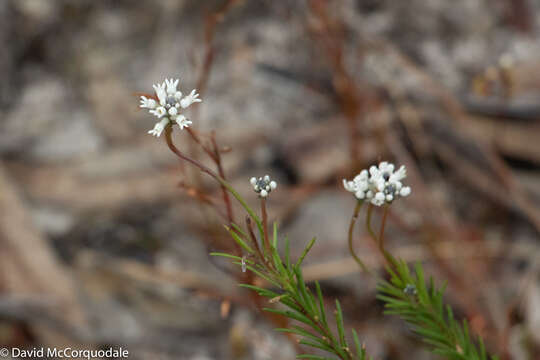
[[[306,279],[372,356],[437,358],[347,251],[341,180],[390,160],[413,192],[388,247],[448,280],[490,351],[540,359],[539,40],[536,0],[0,1],[0,345],[294,358],[208,256],[231,251],[219,188],[146,133],[137,94],[180,77],[232,184],[257,206],[248,180],[271,174],[293,252],[317,236]],[[380,268],[361,228],[355,246]]]

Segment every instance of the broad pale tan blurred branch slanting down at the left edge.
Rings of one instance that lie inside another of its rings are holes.
[[[48,299],[51,321],[58,331],[37,326],[45,344],[73,344],[74,334],[62,329],[86,329],[88,324],[77,299],[73,279],[58,262],[46,239],[34,228],[17,186],[0,164],[0,263],[2,290],[7,295]],[[33,324],[30,324],[31,326]]]

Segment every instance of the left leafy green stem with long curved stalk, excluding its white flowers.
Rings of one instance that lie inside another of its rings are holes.
[[[345,338],[343,313],[339,302],[336,301],[335,320],[338,328],[338,336],[335,336],[328,325],[323,295],[319,284],[317,282],[315,283],[317,293],[317,298],[315,298],[313,291],[304,282],[301,265],[307,253],[315,243],[315,238],[310,241],[300,258],[294,264],[292,264],[290,260],[288,238],[285,238],[286,250],[285,260],[283,260],[277,250],[278,234],[277,224],[275,223],[273,226],[272,243],[270,244],[265,199],[261,198],[262,218],[259,218],[247,205],[242,196],[222,176],[218,175],[199,161],[190,158],[174,145],[171,126],[165,128],[165,142],[169,149],[181,160],[187,161],[189,164],[197,167],[201,172],[206,173],[216,180],[246,211],[248,215],[246,217],[247,231],[244,231],[234,222],[231,222],[230,226],[226,226],[225,228],[236,244],[248,254],[248,258],[227,253],[211,253],[211,255],[233,259],[233,263],[240,265],[242,270],[245,268],[274,286],[275,291],[252,284],[241,284],[241,286],[269,298],[271,303],[281,303],[287,309],[265,308],[264,310],[296,320],[310,329],[306,330],[303,327],[293,325],[288,328],[280,328],[277,330],[297,334],[302,338],[300,340],[301,344],[325,350],[330,354],[336,355],[339,359],[366,360],[365,347],[361,345],[358,335],[354,330],[353,339],[355,352],[349,347],[347,339]],[[252,222],[255,222],[259,233],[259,239],[262,242],[261,245],[259,245],[259,241],[255,236]],[[312,354],[297,355],[297,358],[318,360],[332,359]]]

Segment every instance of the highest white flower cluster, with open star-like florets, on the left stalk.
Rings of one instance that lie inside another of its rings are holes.
[[[165,79],[163,83],[155,84],[154,90],[157,101],[153,98],[141,96],[140,107],[148,109],[150,114],[161,119],[152,130],[148,131],[149,134],[160,136],[165,127],[173,121],[180,126],[180,130],[192,123],[184,115],[179,114],[178,111],[180,108],[185,109],[191,104],[202,100],[198,98],[199,94],[195,90],[182,98],[182,93],[176,89],[179,81],[179,79]]]

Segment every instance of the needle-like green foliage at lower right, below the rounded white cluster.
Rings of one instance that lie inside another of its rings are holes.
[[[436,354],[451,360],[487,360],[482,339],[475,343],[467,321],[457,321],[451,307],[444,305],[446,286],[436,287],[432,278],[426,284],[419,263],[414,274],[405,262],[392,263],[392,267],[387,267],[390,281],[383,280],[378,285],[377,298],[386,303],[385,313],[398,315],[409,323]]]

